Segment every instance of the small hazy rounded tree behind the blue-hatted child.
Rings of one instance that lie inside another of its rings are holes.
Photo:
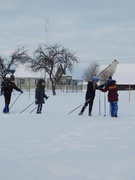
[[[85,81],[92,80],[94,76],[97,76],[99,72],[99,65],[96,62],[92,62],[83,72],[82,78]]]

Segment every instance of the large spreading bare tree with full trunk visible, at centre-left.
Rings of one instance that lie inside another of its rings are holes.
[[[75,54],[59,44],[54,46],[39,45],[34,52],[35,58],[31,68],[33,71],[44,70],[49,75],[53,95],[56,95],[56,84],[66,73],[66,69],[72,72],[75,63],[78,63]]]

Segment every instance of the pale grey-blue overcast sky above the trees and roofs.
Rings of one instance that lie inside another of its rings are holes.
[[[77,51],[79,76],[92,61],[134,63],[135,0],[0,0],[2,57],[58,42]]]

